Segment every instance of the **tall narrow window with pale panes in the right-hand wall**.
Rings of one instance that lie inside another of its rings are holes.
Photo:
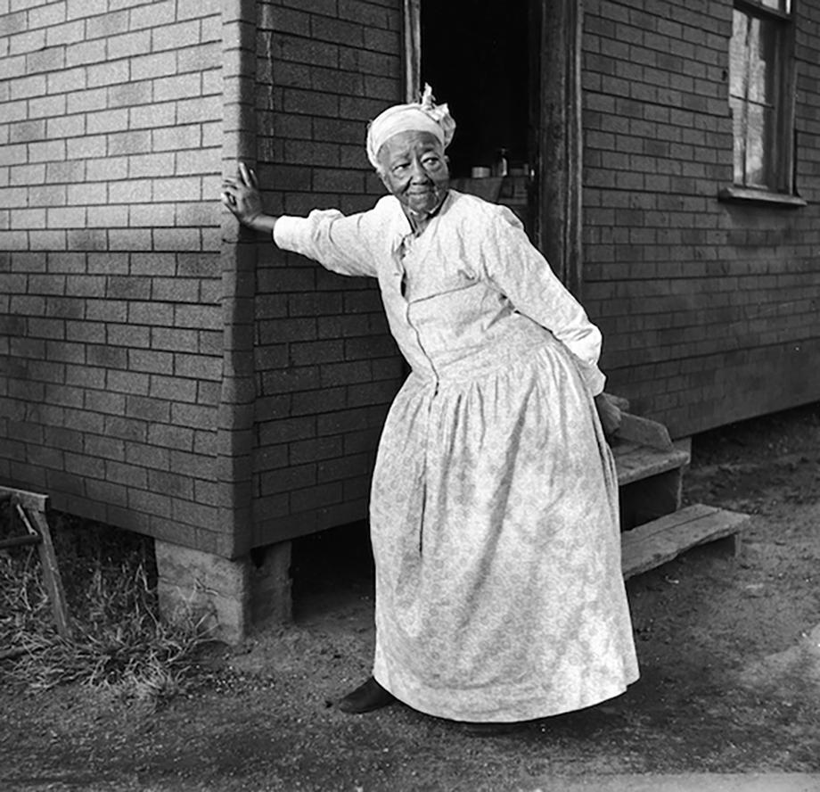
[[[791,0],[735,0],[729,52],[734,189],[726,197],[794,192],[791,19]]]

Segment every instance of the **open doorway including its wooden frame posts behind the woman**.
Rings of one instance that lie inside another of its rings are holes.
[[[451,186],[509,206],[578,296],[583,4],[404,0],[404,10],[406,101],[429,82],[450,105]],[[501,149],[506,175],[497,168]]]

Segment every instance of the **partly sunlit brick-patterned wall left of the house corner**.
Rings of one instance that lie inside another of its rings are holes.
[[[0,479],[220,542],[218,0],[0,0]]]

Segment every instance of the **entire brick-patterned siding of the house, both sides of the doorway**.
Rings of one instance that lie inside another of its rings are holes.
[[[366,515],[404,375],[375,285],[232,241],[214,199],[242,156],[272,212],[373,205],[401,6],[0,0],[0,480],[224,555]],[[797,8],[809,205],[784,210],[717,201],[731,2],[585,7],[610,390],[676,434],[817,399],[820,11]]]

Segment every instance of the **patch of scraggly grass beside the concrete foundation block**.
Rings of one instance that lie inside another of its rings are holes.
[[[152,541],[70,516],[49,521],[71,638],[57,634],[37,549],[0,551],[0,678],[33,690],[85,684],[152,708],[183,691],[210,642],[207,615],[160,620]]]

